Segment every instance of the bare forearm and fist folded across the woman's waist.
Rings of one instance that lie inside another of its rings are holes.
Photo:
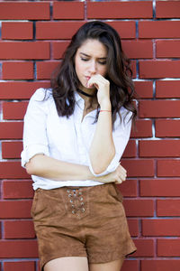
[[[59,161],[44,154],[34,155],[25,167],[27,173],[31,175],[54,181],[93,180],[103,183],[121,183],[126,179],[126,171],[121,165],[114,173],[102,177],[94,177],[88,166]]]

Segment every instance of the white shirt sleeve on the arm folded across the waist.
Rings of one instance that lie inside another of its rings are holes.
[[[23,167],[35,154],[49,155],[46,128],[48,106],[45,91],[45,89],[35,91],[24,116],[23,152],[21,154]]]

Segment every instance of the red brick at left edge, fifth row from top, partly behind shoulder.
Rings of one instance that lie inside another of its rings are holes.
[[[49,81],[0,82],[0,99],[28,99],[36,89],[49,88]]]

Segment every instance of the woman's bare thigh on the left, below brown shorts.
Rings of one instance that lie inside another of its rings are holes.
[[[86,257],[58,257],[50,260],[45,266],[44,271],[88,271]]]

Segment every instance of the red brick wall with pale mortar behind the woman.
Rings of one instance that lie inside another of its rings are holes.
[[[0,262],[38,271],[30,176],[20,165],[23,115],[76,29],[91,19],[120,33],[139,94],[120,188],[138,251],[123,271],[179,271],[180,1],[0,1]],[[166,80],[165,80],[166,79]]]

